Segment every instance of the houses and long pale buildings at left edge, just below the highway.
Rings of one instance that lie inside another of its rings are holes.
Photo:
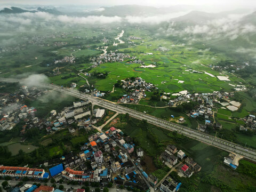
[[[47,90],[37,89],[36,87],[22,86],[19,93],[5,94],[0,100],[0,131],[11,130],[22,120],[25,125],[22,126],[20,134],[22,136],[21,141],[25,141],[26,138],[23,135],[33,127],[38,127],[39,130],[46,129],[47,132],[58,131],[61,126],[72,124],[79,121],[79,119],[83,119],[84,124],[88,125],[90,122],[88,117],[91,116],[88,101],[73,102],[73,106],[64,108],[58,114],[56,110],[52,110],[50,112],[51,116],[47,119],[36,117],[36,108],[22,104],[27,98],[35,99],[47,92]],[[95,119],[100,119],[104,114],[104,111],[98,113]],[[69,127],[69,131],[72,133],[75,130]]]

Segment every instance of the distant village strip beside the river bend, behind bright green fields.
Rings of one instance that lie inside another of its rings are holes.
[[[115,53],[110,51],[110,53],[98,55],[97,57],[90,58],[92,67],[97,67],[98,65],[105,62],[122,62],[124,59],[132,59],[130,55],[124,53]]]

